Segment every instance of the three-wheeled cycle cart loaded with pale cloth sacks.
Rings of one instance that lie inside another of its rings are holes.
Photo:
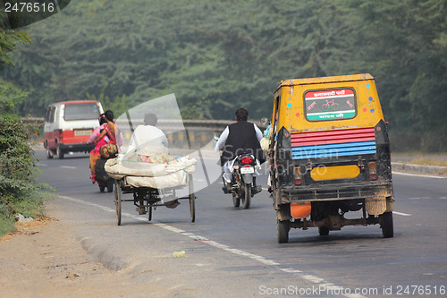
[[[125,166],[116,167],[116,161],[111,159],[106,166],[107,173],[114,178],[114,204],[116,222],[122,222],[122,202],[133,202],[140,215],[148,214],[148,221],[152,220],[152,213],[158,207],[175,208],[178,200],[189,200],[190,220],[196,219],[195,200],[192,172],[194,172],[195,159],[190,159],[181,165],[141,165],[139,175],[135,175],[135,168]],[[136,163],[133,163],[134,165]],[[156,169],[143,169],[141,166],[157,167]],[[170,167],[171,166],[171,167]],[[165,175],[160,175],[160,168],[168,167]],[[169,168],[170,167],[170,168]],[[154,176],[155,175],[155,176]],[[187,195],[179,196],[188,190]],[[131,199],[123,198],[123,194],[132,194]]]

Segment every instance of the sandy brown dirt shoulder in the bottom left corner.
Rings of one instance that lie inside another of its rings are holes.
[[[92,259],[70,227],[51,217],[18,223],[0,239],[2,297],[164,297],[163,289],[138,285],[127,272]]]

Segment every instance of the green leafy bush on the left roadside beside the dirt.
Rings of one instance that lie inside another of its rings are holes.
[[[30,146],[34,128],[14,114],[26,93],[0,84],[0,235],[14,228],[15,217],[43,214],[43,202],[51,196],[46,183],[37,183],[38,165]]]

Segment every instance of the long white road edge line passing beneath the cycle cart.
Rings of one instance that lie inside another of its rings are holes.
[[[106,212],[115,213],[114,209],[111,209],[111,208],[108,208],[108,207],[105,207],[105,206],[101,206],[101,205],[98,205],[96,203],[92,203],[92,202],[89,202],[89,201],[75,199],[75,198],[67,197],[67,196],[59,196],[59,198],[61,198],[63,200],[72,200],[73,202],[77,202],[77,203],[80,203],[80,204],[96,207],[96,208],[102,209],[102,210],[104,210]],[[131,218],[137,219],[139,221],[145,221],[145,222],[148,221],[147,218],[137,217],[135,215],[132,215],[132,214],[129,214],[129,213],[126,213],[126,212],[122,212],[122,216],[131,217]],[[179,229],[177,227],[174,227],[174,226],[169,226],[169,225],[166,225],[166,224],[163,224],[163,223],[158,223],[156,221],[154,221],[154,225],[162,227],[162,228],[164,228],[164,229],[166,229],[168,231],[171,231],[171,232],[174,232],[174,233],[177,233],[177,234],[181,234],[181,235],[190,237],[192,239],[206,240],[206,241],[203,241],[203,243],[207,243],[208,245],[214,246],[215,248],[221,249],[223,251],[229,251],[229,252],[232,252],[233,254],[240,255],[242,257],[246,257],[246,258],[249,258],[249,259],[252,259],[252,260],[257,260],[258,262],[260,262],[260,263],[262,263],[264,265],[272,266],[272,267],[277,268],[277,269],[279,269],[279,270],[281,270],[283,272],[292,273],[292,274],[294,274],[294,275],[296,275],[298,277],[301,277],[302,279],[308,280],[309,282],[314,283],[316,285],[326,286],[325,288],[328,288],[328,289],[330,287],[330,289],[333,290],[333,291],[338,291],[338,293],[344,293],[342,295],[344,295],[346,297],[349,297],[349,298],[367,298],[366,296],[363,296],[363,295],[360,295],[360,294],[347,294],[346,291],[344,291],[346,289],[346,287],[341,286],[341,285],[334,285],[332,283],[328,283],[323,278],[316,277],[316,276],[313,276],[313,275],[310,275],[310,274],[306,274],[303,271],[292,269],[292,268],[280,268],[280,266],[281,266],[280,263],[278,263],[278,262],[276,262],[274,260],[268,260],[268,259],[264,258],[263,256],[260,256],[260,255],[257,255],[257,254],[253,254],[253,253],[249,253],[247,251],[242,251],[242,250],[239,250],[239,249],[231,248],[228,245],[225,245],[225,244],[222,244],[222,243],[217,243],[217,242],[215,242],[213,240],[207,239],[206,237],[202,237],[202,236],[197,235],[197,234],[192,234],[192,233],[183,231],[183,230],[181,230],[181,229]]]

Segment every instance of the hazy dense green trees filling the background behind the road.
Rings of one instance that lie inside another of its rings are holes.
[[[443,150],[446,27],[446,0],[79,1],[32,25],[4,75],[30,92],[23,114],[175,93],[185,117],[231,119],[269,115],[281,80],[368,72],[394,144]]]

